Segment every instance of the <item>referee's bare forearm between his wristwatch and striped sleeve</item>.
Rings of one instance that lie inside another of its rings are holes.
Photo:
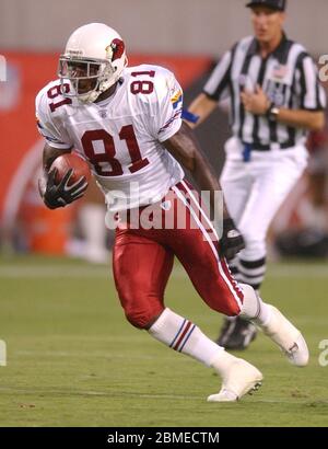
[[[312,112],[304,110],[279,108],[277,120],[290,126],[319,130],[325,126],[325,114],[320,111]]]

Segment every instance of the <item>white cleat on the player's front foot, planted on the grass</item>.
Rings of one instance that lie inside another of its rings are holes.
[[[235,358],[223,377],[219,393],[211,394],[208,402],[234,402],[253,391],[257,391],[262,381],[262,373],[248,361]]]

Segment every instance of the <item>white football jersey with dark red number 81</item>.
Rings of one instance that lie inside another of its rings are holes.
[[[36,97],[38,130],[50,147],[73,148],[90,162],[112,212],[157,202],[181,181],[180,164],[161,143],[180,128],[181,108],[174,74],[150,65],[127,68],[103,102],[62,96],[60,80]]]

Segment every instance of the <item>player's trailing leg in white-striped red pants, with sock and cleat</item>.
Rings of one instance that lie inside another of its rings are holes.
[[[225,261],[218,256],[218,242],[198,219],[197,211],[206,217],[195,195],[186,200],[184,194],[190,194],[188,186],[175,187],[178,199],[184,203],[190,216],[191,229],[176,230],[171,239],[171,246],[185,266],[192,284],[202,299],[214,310],[227,315],[239,315],[254,321],[278,344],[296,366],[305,366],[308,350],[301,332],[292,325],[277,309],[265,303],[248,285],[238,285],[230,275]],[[209,228],[211,228],[209,222]],[[209,229],[210,230],[210,229]]]

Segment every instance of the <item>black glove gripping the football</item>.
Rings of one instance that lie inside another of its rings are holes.
[[[68,170],[60,183],[57,185],[55,183],[57,169],[51,170],[47,179],[39,180],[39,192],[45,205],[49,209],[65,207],[83,196],[87,187],[87,181],[84,176],[81,176],[74,184],[68,185],[72,173],[73,169]]]

